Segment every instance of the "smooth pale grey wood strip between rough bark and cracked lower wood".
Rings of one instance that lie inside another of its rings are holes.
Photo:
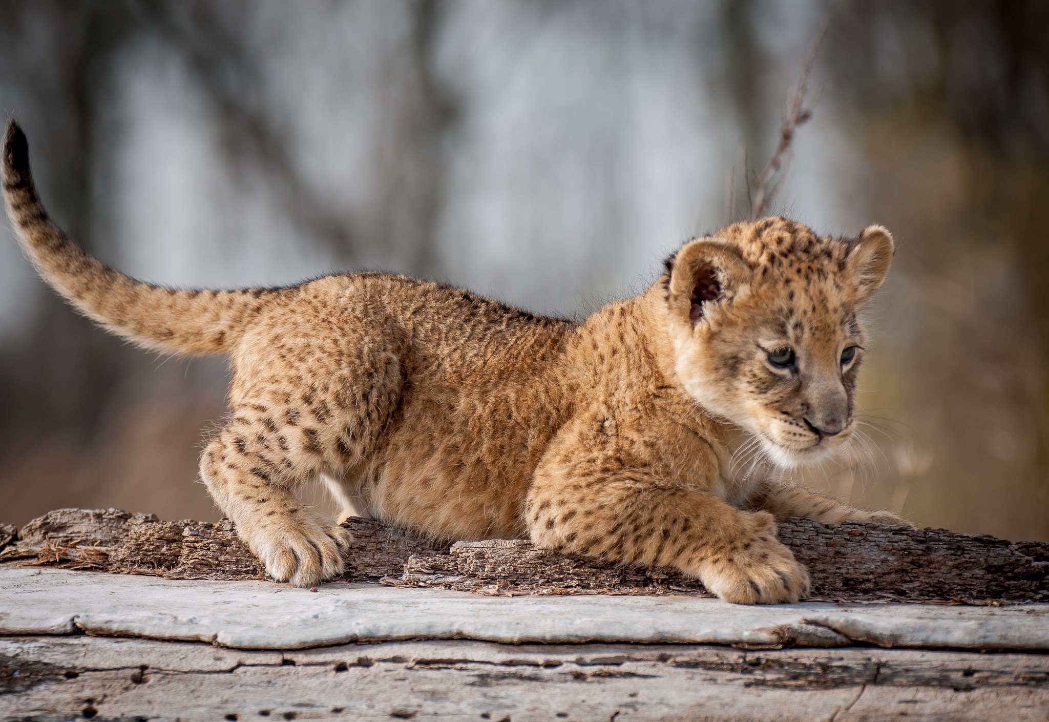
[[[199,581],[65,569],[0,569],[0,635],[206,641],[300,650],[397,639],[633,642],[747,649],[1049,651],[1049,606],[899,602],[745,606],[688,594],[518,595],[334,582]]]

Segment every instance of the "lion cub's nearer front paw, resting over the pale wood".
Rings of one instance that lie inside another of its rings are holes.
[[[735,548],[707,561],[700,572],[703,586],[736,604],[775,604],[809,596],[809,572],[776,538],[772,515],[742,517],[744,531]]]

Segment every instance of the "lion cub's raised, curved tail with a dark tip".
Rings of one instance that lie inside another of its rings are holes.
[[[147,348],[229,352],[251,318],[283,292],[166,289],[88,255],[47,217],[33,185],[25,134],[14,122],[3,140],[3,189],[12,226],[40,275],[85,316]]]

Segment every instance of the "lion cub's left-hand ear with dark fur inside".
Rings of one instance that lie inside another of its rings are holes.
[[[750,268],[740,252],[716,238],[692,240],[673,257],[667,301],[670,313],[695,325],[708,306],[746,291]]]

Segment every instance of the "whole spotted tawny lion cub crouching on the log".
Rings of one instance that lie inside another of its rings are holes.
[[[574,323],[379,273],[152,285],[48,219],[14,123],[3,183],[26,254],[79,311],[147,348],[230,355],[230,417],[200,475],[275,579],[343,570],[347,532],[292,493],[317,479],[347,514],[675,567],[742,603],[809,592],[774,519],[899,522],[732,464],[753,447],[789,467],[849,443],[858,314],[893,258],[880,227],[835,240],[785,218],[736,224]]]

